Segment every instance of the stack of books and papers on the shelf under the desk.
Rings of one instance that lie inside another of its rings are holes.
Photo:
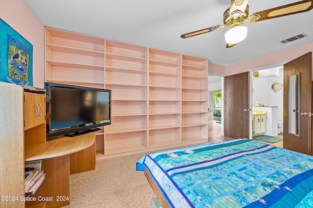
[[[32,195],[45,179],[44,170],[41,170],[41,160],[25,162],[25,197]]]

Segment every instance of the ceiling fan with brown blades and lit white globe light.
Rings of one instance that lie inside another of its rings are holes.
[[[249,16],[248,0],[231,0],[230,7],[224,12],[224,24],[217,25],[195,32],[183,34],[181,38],[189,38],[203,33],[221,30],[229,26],[225,33],[226,48],[236,45],[246,38],[247,28],[242,26],[244,21],[249,23],[266,19],[279,18],[296,13],[307,12],[313,8],[313,0],[302,0],[295,3],[256,12]],[[249,16],[249,17],[248,17]]]

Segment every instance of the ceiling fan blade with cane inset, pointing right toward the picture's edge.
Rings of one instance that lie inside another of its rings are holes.
[[[252,14],[247,21],[255,22],[266,19],[279,18],[296,13],[307,12],[313,8],[313,0],[302,0],[295,3],[287,4],[284,6],[275,7],[272,9],[256,12]]]

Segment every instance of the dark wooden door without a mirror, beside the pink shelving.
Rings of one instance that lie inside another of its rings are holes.
[[[249,138],[249,73],[224,77],[224,136]]]

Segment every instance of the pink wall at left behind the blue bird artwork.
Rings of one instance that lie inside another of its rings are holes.
[[[33,45],[33,86],[44,87],[44,25],[24,0],[0,0],[0,18]]]

